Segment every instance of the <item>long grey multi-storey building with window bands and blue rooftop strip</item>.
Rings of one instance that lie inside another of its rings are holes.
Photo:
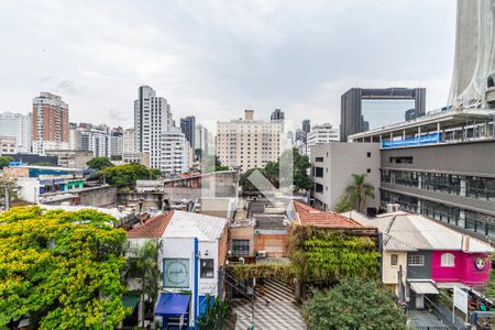
[[[350,136],[381,141],[381,206],[495,242],[495,112],[454,109]]]

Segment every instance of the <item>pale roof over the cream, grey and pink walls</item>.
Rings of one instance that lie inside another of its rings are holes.
[[[394,238],[389,240],[391,245],[384,238],[385,250],[403,250],[400,245],[411,246],[417,250],[452,250],[465,251],[468,253],[475,252],[494,252],[492,245],[484,243],[473,237],[462,234],[447,226],[431,220],[421,215],[413,215],[408,212],[392,212],[380,215],[371,220],[355,219],[358,222],[376,227],[382,233]],[[463,250],[463,241],[469,238],[469,246]],[[397,242],[400,244],[397,246]]]

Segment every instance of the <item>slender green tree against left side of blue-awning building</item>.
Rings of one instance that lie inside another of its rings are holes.
[[[141,295],[142,315],[144,316],[144,300],[151,299],[153,306],[156,302],[160,292],[160,278],[162,273],[158,270],[158,250],[160,244],[156,241],[146,241],[143,246],[134,249],[130,258],[132,262],[133,273],[135,278],[140,279],[141,287],[139,293]],[[144,317],[142,318],[141,327],[144,329]]]

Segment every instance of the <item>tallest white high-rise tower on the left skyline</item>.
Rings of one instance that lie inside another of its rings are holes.
[[[156,97],[150,86],[138,89],[134,100],[134,136],[138,152],[150,154],[150,166],[161,166],[161,136],[172,127],[170,106],[167,100]]]

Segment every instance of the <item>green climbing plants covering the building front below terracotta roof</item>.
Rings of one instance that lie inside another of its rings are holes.
[[[290,262],[302,282],[378,276],[380,253],[374,237],[308,226],[292,226],[288,234]]]

